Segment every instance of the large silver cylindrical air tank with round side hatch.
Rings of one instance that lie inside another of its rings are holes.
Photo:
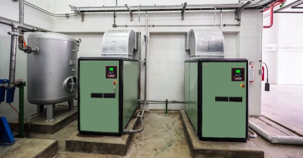
[[[81,40],[65,34],[33,33],[28,45],[39,52],[27,55],[27,100],[52,105],[72,100],[77,91],[77,51]]]

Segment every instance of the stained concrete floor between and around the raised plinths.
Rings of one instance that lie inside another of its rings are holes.
[[[252,118],[253,119],[253,118]],[[252,120],[256,122],[256,120]],[[257,121],[259,121],[257,119]],[[145,129],[142,133],[135,134],[130,149],[125,157],[191,157],[185,135],[182,130],[179,113],[171,113],[170,116],[163,116],[162,112],[147,112],[144,118]],[[261,126],[263,127],[263,126]],[[274,133],[274,128],[266,128]],[[89,153],[76,153],[65,151],[65,139],[77,131],[77,121],[54,135],[30,134],[32,138],[58,140],[59,152],[55,158],[72,157],[121,157],[112,155],[97,155]],[[303,147],[294,145],[273,145],[261,137],[252,141],[265,152],[266,158],[303,157]]]

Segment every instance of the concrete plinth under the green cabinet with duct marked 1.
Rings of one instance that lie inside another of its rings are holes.
[[[180,120],[185,132],[191,156],[264,158],[264,152],[251,140],[246,143],[199,141],[184,110],[180,111]]]

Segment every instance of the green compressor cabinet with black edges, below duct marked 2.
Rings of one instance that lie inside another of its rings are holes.
[[[121,136],[138,101],[138,60],[78,59],[79,134]]]

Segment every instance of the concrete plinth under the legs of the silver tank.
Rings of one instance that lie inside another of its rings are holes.
[[[54,118],[55,120],[52,122],[45,122],[46,120],[46,112],[40,114],[34,118],[30,119],[28,122],[27,119],[24,120],[24,131],[25,133],[29,129],[29,133],[35,134],[55,134],[56,132],[60,131],[68,124],[71,124],[78,118],[77,110],[69,111],[68,107],[66,106],[56,106],[54,108]],[[28,117],[30,115],[25,116]],[[9,122],[10,127],[14,127],[18,120],[15,119]],[[17,125],[13,131],[19,132],[19,125]]]

